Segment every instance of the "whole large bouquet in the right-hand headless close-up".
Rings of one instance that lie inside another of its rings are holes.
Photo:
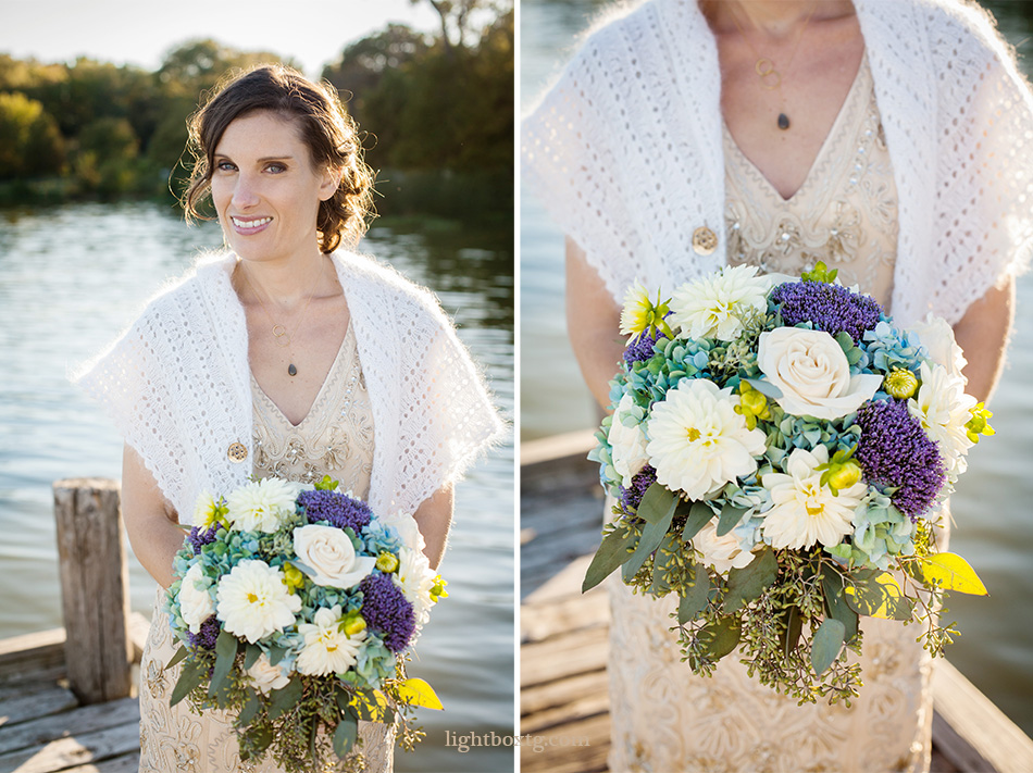
[[[584,590],[621,568],[679,597],[697,674],[738,648],[750,676],[805,701],[857,696],[858,618],[922,624],[942,654],[947,590],[985,595],[936,551],[942,501],[993,435],[964,394],[947,323],[900,329],[819,263],[799,279],[726,267],[650,300],[636,285],[589,454],[617,500]],[[951,624],[953,625],[953,624]]]

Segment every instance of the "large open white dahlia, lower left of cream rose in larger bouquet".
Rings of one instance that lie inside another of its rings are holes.
[[[684,378],[652,407],[647,432],[657,481],[704,499],[757,470],[766,435],[735,412],[739,398],[704,378]]]

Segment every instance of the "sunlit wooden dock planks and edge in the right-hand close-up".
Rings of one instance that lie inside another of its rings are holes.
[[[581,594],[602,513],[593,445],[585,432],[521,448],[521,733],[567,743],[522,745],[522,773],[607,771],[609,609],[601,587]],[[944,660],[933,703],[932,773],[1033,771],[1033,741]]]

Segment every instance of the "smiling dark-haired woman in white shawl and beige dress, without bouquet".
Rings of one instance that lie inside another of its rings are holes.
[[[178,666],[163,669],[175,647],[161,599],[177,524],[201,491],[250,475],[329,475],[374,512],[411,513],[436,566],[452,486],[500,421],[434,297],[346,249],[364,233],[372,179],[336,93],[257,67],[190,128],[186,209],[197,216],[210,194],[229,251],[153,299],[79,384],[125,437],[126,531],[161,586],[141,663],[140,770],[273,771],[241,762],[225,714],[169,706]],[[360,727],[369,770],[393,769],[394,736]]]

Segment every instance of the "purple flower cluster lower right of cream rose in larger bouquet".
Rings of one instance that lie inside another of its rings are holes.
[[[897,487],[889,500],[912,521],[935,501],[946,472],[936,444],[905,400],[867,402],[857,412],[857,461],[874,484]]]

